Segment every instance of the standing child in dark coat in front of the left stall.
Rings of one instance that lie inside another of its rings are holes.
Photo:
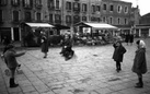
[[[48,38],[45,32],[42,32],[42,52],[44,52],[44,58],[47,58]]]

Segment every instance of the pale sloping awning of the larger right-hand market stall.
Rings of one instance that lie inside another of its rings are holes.
[[[94,27],[94,28],[101,28],[101,30],[117,30],[116,26],[113,26],[113,25],[109,25],[109,24],[106,24],[106,23],[85,23],[85,22],[80,22],[76,25],[85,25],[85,26],[91,26],[91,27]]]

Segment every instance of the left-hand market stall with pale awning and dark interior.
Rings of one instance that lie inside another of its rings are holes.
[[[22,46],[41,46],[41,33],[46,32],[48,37],[51,27],[48,23],[21,23]]]

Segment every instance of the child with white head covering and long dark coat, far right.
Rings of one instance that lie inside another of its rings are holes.
[[[137,40],[137,50],[134,59],[132,72],[137,73],[139,82],[136,83],[135,87],[142,87],[142,74],[145,74],[147,70],[147,60],[146,60],[146,44],[143,40]]]

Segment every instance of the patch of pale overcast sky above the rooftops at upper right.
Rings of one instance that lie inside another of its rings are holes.
[[[150,13],[150,0],[123,0],[123,1],[132,2],[132,7],[137,7],[138,3],[141,15]]]

